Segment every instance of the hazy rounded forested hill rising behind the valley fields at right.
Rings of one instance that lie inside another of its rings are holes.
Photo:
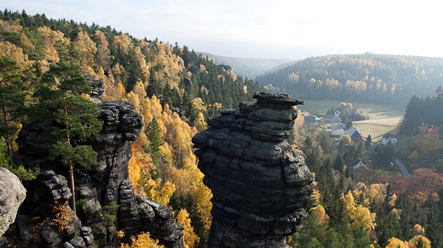
[[[261,85],[299,99],[334,99],[406,105],[443,83],[443,59],[399,55],[328,55],[309,57],[257,76]]]

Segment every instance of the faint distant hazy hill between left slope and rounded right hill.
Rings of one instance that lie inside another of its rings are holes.
[[[207,58],[214,61],[215,64],[229,65],[236,74],[248,78],[255,78],[266,71],[291,62],[291,60],[285,59],[272,60],[252,57],[225,57],[220,55],[212,55],[210,53],[200,54],[207,56]]]

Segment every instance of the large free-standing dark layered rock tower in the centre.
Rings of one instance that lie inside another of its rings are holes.
[[[287,139],[302,102],[288,95],[257,93],[209,119],[193,137],[203,182],[212,190],[207,247],[287,247],[300,231],[303,207],[314,188],[302,151]]]

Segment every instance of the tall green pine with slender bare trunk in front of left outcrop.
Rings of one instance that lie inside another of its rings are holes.
[[[75,165],[97,165],[97,153],[91,146],[76,144],[85,142],[101,131],[98,109],[94,102],[82,97],[89,94],[88,78],[80,73],[79,64],[60,60],[51,64],[41,78],[37,89],[39,97],[38,120],[44,123],[46,137],[51,142],[49,159],[60,159],[68,166],[68,182],[72,191],[70,207],[75,212]]]

